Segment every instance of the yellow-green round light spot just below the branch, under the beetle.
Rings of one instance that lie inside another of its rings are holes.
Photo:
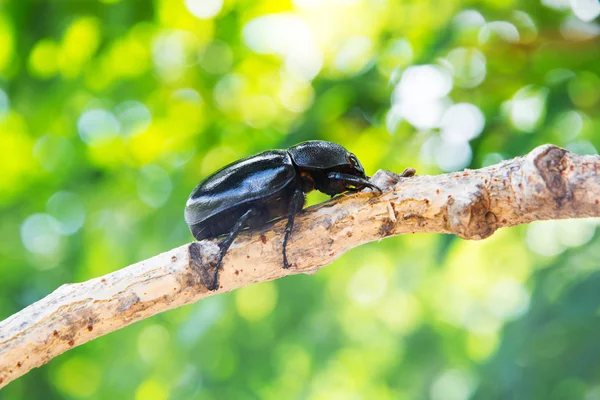
[[[273,282],[250,285],[235,291],[238,313],[250,322],[268,317],[277,304],[277,286]]]

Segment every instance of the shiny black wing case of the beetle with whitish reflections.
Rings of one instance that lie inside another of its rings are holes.
[[[285,150],[236,161],[196,186],[185,206],[185,221],[197,224],[230,208],[271,196],[295,177],[296,170]]]

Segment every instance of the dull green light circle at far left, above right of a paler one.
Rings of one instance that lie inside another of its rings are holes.
[[[75,193],[55,193],[48,200],[46,210],[56,219],[58,231],[63,235],[74,234],[85,221],[83,202]]]

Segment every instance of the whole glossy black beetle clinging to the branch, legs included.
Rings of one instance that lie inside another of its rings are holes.
[[[209,290],[218,286],[221,261],[245,227],[259,228],[287,215],[283,235],[283,267],[289,268],[286,246],[294,217],[304,206],[304,193],[330,196],[359,191],[370,183],[356,156],[339,144],[312,140],[287,150],[270,150],[229,164],[204,179],[185,205],[185,221],[197,240],[227,234]]]

